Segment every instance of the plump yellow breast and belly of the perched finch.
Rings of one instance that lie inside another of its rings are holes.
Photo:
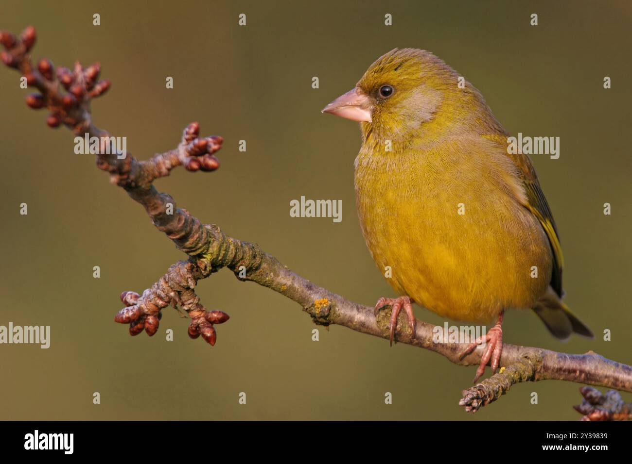
[[[356,205],[368,249],[399,294],[442,316],[486,321],[544,294],[551,252],[503,181],[512,174],[504,161],[458,148],[360,152]]]

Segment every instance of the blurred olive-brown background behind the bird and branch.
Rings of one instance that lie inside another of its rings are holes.
[[[566,301],[597,338],[557,342],[531,311],[512,311],[505,341],[632,363],[629,2],[4,0],[1,8],[0,28],[37,28],[35,58],[100,61],[112,88],[95,100],[95,122],[126,136],[138,158],[174,148],[191,121],[224,136],[219,171],[177,169],[157,188],[363,304],[393,293],[355,213],[360,133],[320,109],[384,52],[434,52],[477,86],[507,131],[561,137],[559,160],[536,155],[533,163],[561,234]],[[73,153],[69,131],[48,129],[46,114],[28,109],[28,93],[18,73],[0,69],[0,325],[49,325],[51,348],[0,345],[0,419],[579,418],[571,405],[580,385],[559,381],[519,384],[468,415],[458,400],[475,367],[407,345],[389,349],[338,326],[320,328],[312,342],[315,326],[299,306],[225,270],[198,286],[205,306],[231,316],[215,347],[190,340],[169,308],[157,335],[129,336],[113,322],[119,293],[142,292],[183,254],[91,156]],[[241,139],[246,153],[238,152]],[[289,217],[289,201],[301,195],[342,199],[343,222]],[[238,404],[242,391],[246,405]],[[384,404],[387,391],[392,405]]]

